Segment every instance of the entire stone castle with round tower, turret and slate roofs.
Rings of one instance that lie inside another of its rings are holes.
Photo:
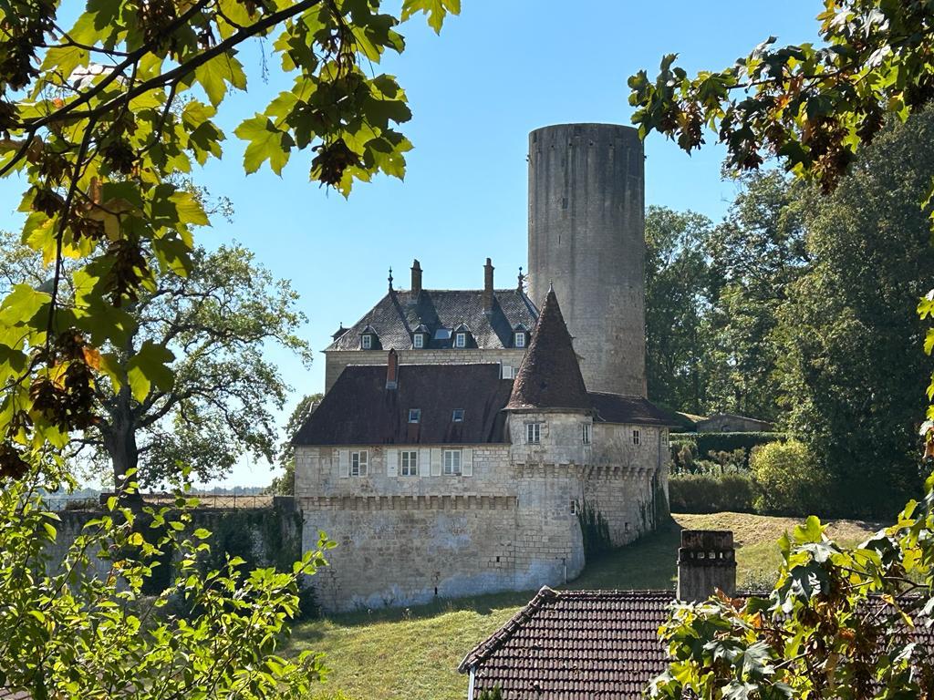
[[[323,609],[573,579],[585,539],[667,511],[670,417],[645,397],[644,155],[634,129],[529,139],[529,288],[394,289],[325,351],[293,439]],[[535,302],[542,304],[539,308]],[[562,313],[563,312],[563,313]]]

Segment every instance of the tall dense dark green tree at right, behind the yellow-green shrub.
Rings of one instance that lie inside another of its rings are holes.
[[[930,286],[927,211],[934,111],[916,112],[861,149],[808,217],[814,260],[789,287],[781,378],[788,422],[834,487],[837,512],[885,517],[917,493]],[[842,509],[845,509],[843,511]]]

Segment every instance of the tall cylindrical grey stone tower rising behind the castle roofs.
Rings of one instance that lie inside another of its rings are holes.
[[[554,284],[587,389],[645,396],[644,154],[635,129],[529,134],[531,299]]]

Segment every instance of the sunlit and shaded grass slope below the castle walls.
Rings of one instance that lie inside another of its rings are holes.
[[[680,529],[729,529],[737,545],[741,587],[762,585],[777,567],[774,544],[800,520],[722,512],[675,515],[675,526],[622,547],[587,566],[568,588],[674,587]],[[829,535],[852,545],[877,524],[834,521]],[[467,679],[457,665],[475,644],[525,605],[532,591],[440,600],[409,609],[379,609],[296,625],[292,651],[323,651],[332,668],[316,700],[462,700]]]

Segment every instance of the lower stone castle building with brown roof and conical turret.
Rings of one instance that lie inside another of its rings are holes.
[[[400,362],[380,339],[378,364],[342,367],[294,438],[304,546],[319,530],[338,544],[313,580],[324,609],[563,583],[594,518],[621,545],[667,513],[670,417],[588,392],[554,291],[533,310],[502,316],[514,345],[529,339],[515,380],[487,357]]]

